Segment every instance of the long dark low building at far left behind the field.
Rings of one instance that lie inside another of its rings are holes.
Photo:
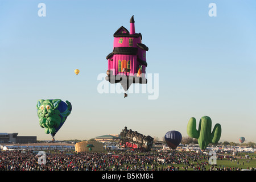
[[[0,133],[0,143],[36,143],[36,136],[18,136],[18,133]]]

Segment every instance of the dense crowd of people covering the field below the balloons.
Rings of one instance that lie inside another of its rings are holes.
[[[111,153],[110,153],[111,152]],[[42,156],[32,152],[0,151],[0,171],[179,171],[189,168],[205,171],[240,171],[240,167],[211,166],[209,156],[196,152],[131,151],[51,152]],[[39,160],[40,159],[40,160]],[[181,164],[181,165],[176,165]],[[250,168],[256,170],[255,168]]]

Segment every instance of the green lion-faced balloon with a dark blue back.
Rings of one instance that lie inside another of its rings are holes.
[[[71,113],[71,103],[63,102],[60,99],[38,100],[36,108],[38,109],[39,125],[44,128],[46,134],[52,135],[54,141],[55,134]]]

